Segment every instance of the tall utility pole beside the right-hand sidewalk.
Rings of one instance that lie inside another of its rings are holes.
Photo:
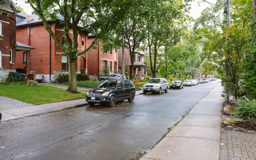
[[[225,98],[224,102],[229,102],[229,82],[228,82],[228,77],[229,77],[229,57],[230,57],[230,50],[229,50],[229,27],[230,27],[230,0],[227,0],[227,8],[226,8],[226,13],[227,13],[227,30],[226,30],[226,60],[225,60]]]

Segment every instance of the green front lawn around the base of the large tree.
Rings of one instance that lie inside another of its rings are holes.
[[[62,100],[84,98],[85,92],[79,94],[67,93],[65,89],[39,84],[38,86],[0,85],[0,96],[6,96],[31,104],[44,104]]]

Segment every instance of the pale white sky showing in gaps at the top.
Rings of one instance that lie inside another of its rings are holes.
[[[29,4],[25,3],[25,0],[13,0],[13,1],[14,3],[17,3],[16,5],[21,6],[27,14],[32,13],[32,8],[29,6]],[[194,19],[198,18],[201,15],[202,10],[204,10],[206,7],[211,6],[211,4],[208,4],[207,2],[200,2],[200,6],[198,6],[198,1],[202,1],[202,0],[194,0],[193,2],[190,2],[191,10],[189,15],[192,16]],[[207,1],[212,4],[216,3],[216,0],[207,0]]]

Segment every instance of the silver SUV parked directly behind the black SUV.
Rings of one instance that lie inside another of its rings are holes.
[[[167,93],[168,82],[165,78],[151,78],[143,85],[142,89],[144,94],[148,92],[158,92],[158,94],[161,94],[162,90]]]

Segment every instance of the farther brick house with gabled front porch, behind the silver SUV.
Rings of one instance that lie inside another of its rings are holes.
[[[143,79],[147,76],[146,67],[148,64],[144,62],[144,52],[143,51],[135,51],[134,57],[134,68],[133,68],[133,75],[135,79]],[[118,70],[122,71],[122,47],[118,49]],[[130,75],[130,65],[131,65],[131,58],[130,58],[130,51],[128,48],[124,48],[124,66],[127,68],[127,72],[125,73],[127,76]]]

